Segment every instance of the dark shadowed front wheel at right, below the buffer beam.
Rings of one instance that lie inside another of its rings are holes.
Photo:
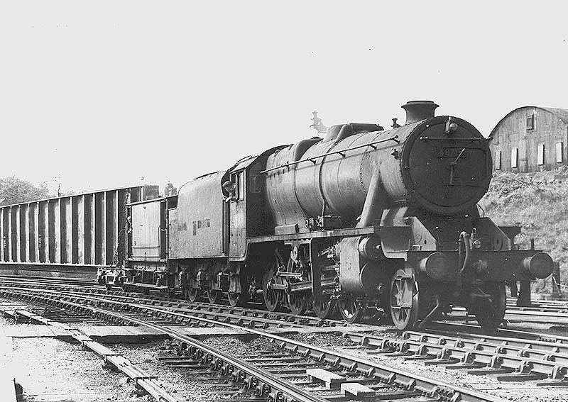
[[[481,328],[494,331],[503,321],[507,306],[507,296],[503,283],[486,284],[481,286],[481,291],[488,294],[490,298],[481,298],[471,306],[471,313]]]

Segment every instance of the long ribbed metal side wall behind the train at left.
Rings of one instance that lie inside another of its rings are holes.
[[[158,186],[135,186],[0,207],[0,264],[109,265],[125,202],[157,196]]]

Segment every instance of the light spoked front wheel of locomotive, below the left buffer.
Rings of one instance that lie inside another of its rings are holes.
[[[418,318],[418,286],[413,275],[403,269],[395,272],[391,281],[391,318],[399,330],[410,330]]]

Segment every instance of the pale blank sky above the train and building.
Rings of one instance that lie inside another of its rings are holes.
[[[0,1],[0,177],[176,186],[324,124],[568,108],[562,1]]]

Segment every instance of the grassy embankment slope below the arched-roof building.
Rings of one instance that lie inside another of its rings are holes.
[[[521,233],[515,242],[521,249],[530,247],[549,253],[560,263],[562,284],[568,281],[568,179],[555,180],[546,176],[528,176],[512,173],[493,175],[489,191],[479,202],[485,215],[497,225],[519,225]],[[564,172],[562,172],[564,173]],[[551,279],[537,281],[532,287],[536,293],[552,292]],[[568,289],[563,287],[563,296]]]

